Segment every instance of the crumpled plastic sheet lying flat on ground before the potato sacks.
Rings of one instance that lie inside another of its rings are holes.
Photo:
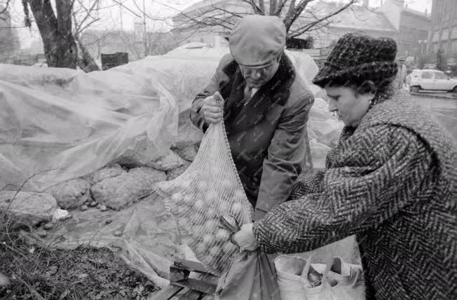
[[[168,285],[166,278],[175,257],[191,258],[185,248],[175,245],[175,221],[156,193],[121,212],[101,212],[93,207],[71,214],[71,219],[58,222],[55,229],[48,231],[46,239],[34,234],[32,238],[41,245],[64,249],[79,245],[108,247],[158,287]]]

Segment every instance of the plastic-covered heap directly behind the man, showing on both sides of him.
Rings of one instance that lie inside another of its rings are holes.
[[[175,141],[175,145],[182,146],[200,141],[202,137],[200,130],[191,125],[189,109],[193,98],[205,88],[219,60],[227,53],[229,53],[228,48],[209,48],[203,43],[191,43],[176,48],[166,55],[146,57],[144,60],[117,67],[116,70],[128,74],[144,74],[144,76],[153,73],[156,69],[162,71],[161,84],[177,99],[180,123],[179,139]],[[318,66],[311,56],[289,50],[286,50],[286,54],[313,94],[322,93],[318,86],[311,83],[318,72]],[[315,139],[311,144],[311,152],[317,154],[313,156],[313,165],[316,168],[323,168],[325,165],[329,146],[336,144],[342,128],[343,124],[329,114],[327,102],[321,97],[316,97],[308,119],[308,135],[310,139]]]

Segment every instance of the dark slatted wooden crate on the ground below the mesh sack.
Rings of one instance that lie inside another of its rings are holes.
[[[197,278],[189,278],[191,272],[198,274]],[[178,259],[170,266],[170,285],[165,287],[149,300],[213,299],[216,292],[217,280],[205,267],[194,261]]]

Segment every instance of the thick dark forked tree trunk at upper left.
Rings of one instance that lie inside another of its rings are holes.
[[[43,39],[48,67],[76,69],[78,48],[71,34],[71,1],[57,0],[57,18],[50,0],[29,0]]]

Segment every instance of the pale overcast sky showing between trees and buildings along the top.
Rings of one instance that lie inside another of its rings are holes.
[[[0,0],[0,5],[6,0]],[[51,0],[53,3],[55,0]],[[86,7],[92,4],[95,0],[76,0],[76,5],[83,3]],[[195,4],[199,0],[144,0],[144,11],[146,13],[146,28],[148,31],[166,31],[170,29],[172,23],[170,20],[154,21],[156,19],[164,19],[173,15],[179,10]],[[341,0],[348,1],[348,0]],[[369,0],[369,5],[372,7],[379,6],[381,0]],[[40,40],[39,31],[36,25],[32,29],[24,28],[24,11],[21,0],[10,0],[12,26],[16,28],[22,48],[28,48],[32,43],[37,43]],[[98,0],[100,9],[95,18],[100,18],[94,22],[90,28],[92,29],[123,29],[133,30],[135,22],[143,22],[142,7],[143,0]],[[409,8],[417,11],[431,11],[432,0],[405,0]],[[31,13],[32,15],[32,13]],[[81,15],[82,16],[82,15]],[[150,18],[149,18],[150,17]]]

